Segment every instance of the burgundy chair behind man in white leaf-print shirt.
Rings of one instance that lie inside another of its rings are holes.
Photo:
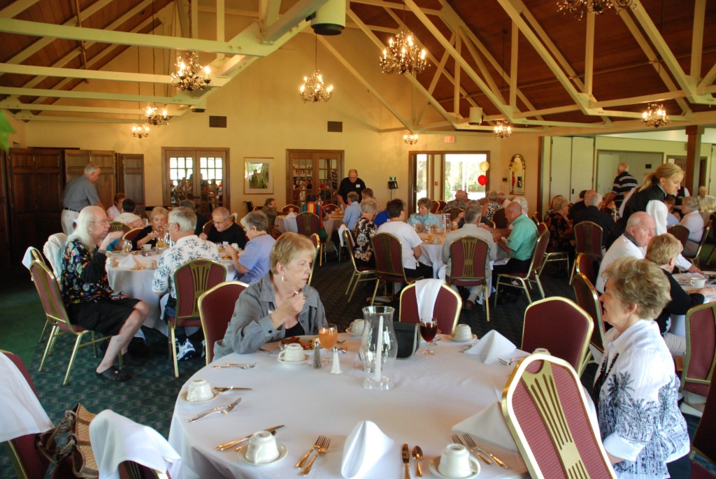
[[[179,377],[174,330],[178,326],[201,327],[198,300],[205,291],[226,281],[226,268],[221,263],[197,258],[178,266],[173,273],[177,293],[176,316],[168,316],[169,350],[174,361],[174,377]]]

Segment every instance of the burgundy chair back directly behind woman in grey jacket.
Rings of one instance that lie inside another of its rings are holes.
[[[226,334],[234,306],[248,284],[241,281],[224,281],[199,296],[199,319],[206,342],[206,364],[214,359],[214,343]]]

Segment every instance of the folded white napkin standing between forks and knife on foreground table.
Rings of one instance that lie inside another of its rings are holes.
[[[367,477],[367,473],[390,450],[393,442],[375,422],[359,422],[343,446],[341,475],[346,479],[361,475]]]

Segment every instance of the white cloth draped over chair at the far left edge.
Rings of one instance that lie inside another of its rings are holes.
[[[0,442],[52,428],[37,396],[15,363],[0,353]]]

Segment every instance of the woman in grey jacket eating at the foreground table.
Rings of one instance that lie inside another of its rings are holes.
[[[249,353],[284,337],[318,334],[326,311],[309,286],[316,248],[309,238],[284,233],[271,248],[271,271],[238,296],[226,335],[214,356]]]

